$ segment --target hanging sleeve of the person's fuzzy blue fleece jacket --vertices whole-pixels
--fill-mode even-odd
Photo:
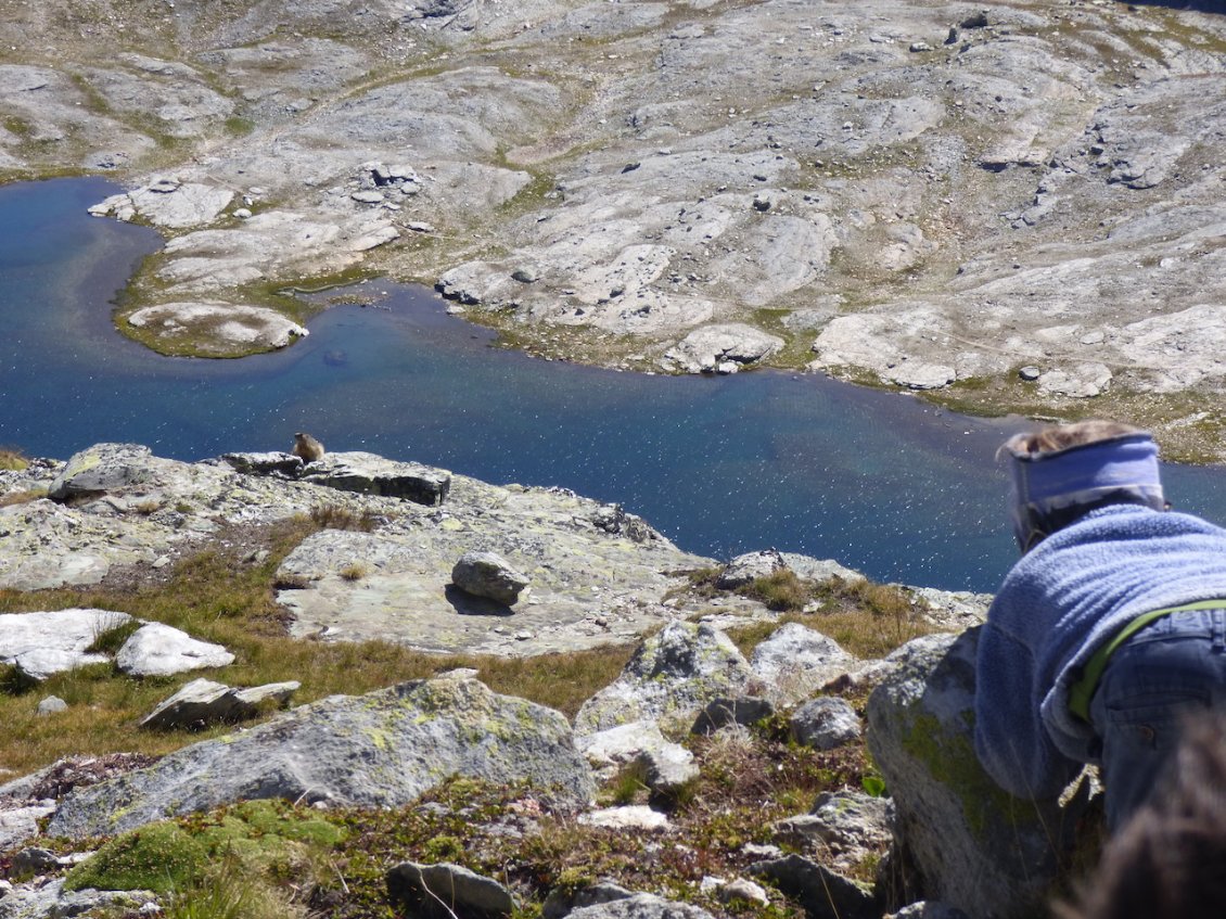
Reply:
[[[1029,647],[988,622],[980,632],[975,751],[987,773],[1018,798],[1056,798],[1081,770],[1052,744],[1040,714]]]

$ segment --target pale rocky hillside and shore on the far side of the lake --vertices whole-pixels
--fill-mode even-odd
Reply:
[[[164,235],[121,331],[436,286],[536,353],[755,364],[1226,455],[1226,17],[1113,0],[6,0],[0,174]]]

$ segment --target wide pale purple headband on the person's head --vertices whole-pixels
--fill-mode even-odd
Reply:
[[[1018,545],[1027,551],[1103,499],[1162,510],[1157,445],[1145,433],[1080,444],[1052,453],[1009,448],[1010,505]]]

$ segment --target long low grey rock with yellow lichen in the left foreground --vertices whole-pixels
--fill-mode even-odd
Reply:
[[[449,776],[528,781],[586,804],[591,771],[553,709],[462,676],[330,696],[66,798],[48,832],[112,834],[228,801],[398,806]]]

